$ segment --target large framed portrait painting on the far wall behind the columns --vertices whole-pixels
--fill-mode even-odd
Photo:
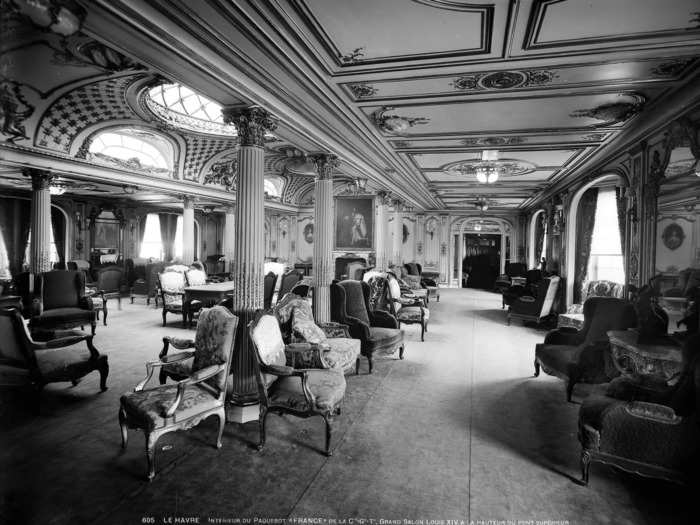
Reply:
[[[371,250],[374,244],[374,198],[336,197],[335,249]]]

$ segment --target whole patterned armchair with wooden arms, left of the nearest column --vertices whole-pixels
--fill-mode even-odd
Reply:
[[[188,430],[209,416],[219,418],[216,447],[226,423],[226,386],[231,368],[234,336],[238,318],[222,306],[203,310],[197,324],[192,352],[171,354],[146,363],[146,378],[133,392],[120,399],[119,426],[122,448],[126,448],[128,429],[140,428],[146,435],[148,479],[155,476],[155,447],[168,432]],[[191,373],[175,384],[145,389],[156,368],[179,361],[192,360]]]

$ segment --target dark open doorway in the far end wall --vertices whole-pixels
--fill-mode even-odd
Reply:
[[[465,233],[462,243],[462,287],[493,290],[501,266],[501,235]]]

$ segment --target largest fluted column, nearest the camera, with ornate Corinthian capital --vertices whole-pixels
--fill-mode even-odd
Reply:
[[[231,277],[233,312],[238,316],[236,353],[232,362],[232,392],[227,419],[244,423],[258,418],[258,387],[248,323],[263,307],[265,262],[265,132],[276,122],[262,108],[225,109],[224,121],[238,131],[236,236]]]

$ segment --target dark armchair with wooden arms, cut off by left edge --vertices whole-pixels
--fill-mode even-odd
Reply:
[[[35,395],[44,385],[70,381],[74,385],[93,370],[100,390],[107,390],[107,356],[92,344],[92,335],[77,330],[54,331],[48,341],[33,340],[16,308],[0,310],[0,387],[29,388]],[[83,347],[80,343],[85,343]]]

